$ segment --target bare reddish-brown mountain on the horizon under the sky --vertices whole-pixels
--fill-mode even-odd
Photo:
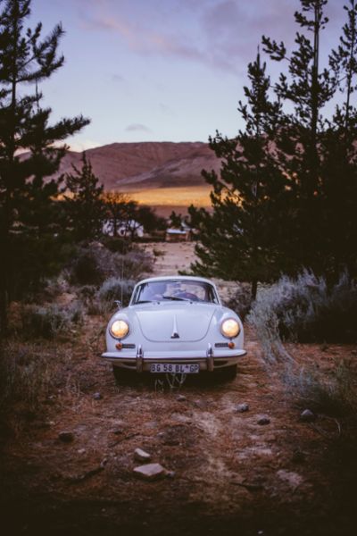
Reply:
[[[93,171],[107,190],[136,191],[153,188],[207,186],[203,169],[218,171],[220,161],[202,142],[112,143],[87,150]],[[81,153],[69,152],[59,174],[80,168]]]

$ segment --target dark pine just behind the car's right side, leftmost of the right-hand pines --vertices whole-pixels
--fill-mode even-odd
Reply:
[[[275,164],[274,139],[280,128],[280,105],[269,97],[270,79],[258,53],[248,65],[247,104],[238,110],[245,130],[228,139],[218,132],[210,147],[221,159],[220,176],[203,172],[212,185],[212,212],[191,206],[198,230],[194,272],[226,280],[269,281],[281,267],[279,220],[284,214],[286,178]]]

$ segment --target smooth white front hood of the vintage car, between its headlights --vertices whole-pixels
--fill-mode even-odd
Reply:
[[[152,342],[195,342],[207,334],[217,306],[213,304],[160,303],[134,306],[145,339]]]

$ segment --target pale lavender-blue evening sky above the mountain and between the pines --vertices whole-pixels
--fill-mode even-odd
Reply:
[[[329,0],[323,50],[338,43],[347,0]],[[294,45],[299,0],[32,0],[30,25],[62,22],[65,64],[41,85],[53,119],[91,123],[73,150],[113,142],[203,141],[243,127],[246,67],[262,34]],[[271,80],[280,65],[267,58]]]

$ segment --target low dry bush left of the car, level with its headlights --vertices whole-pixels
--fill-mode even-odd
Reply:
[[[83,309],[79,303],[68,307],[27,306],[22,311],[22,332],[28,337],[54,339],[58,333],[70,330],[81,322]]]

